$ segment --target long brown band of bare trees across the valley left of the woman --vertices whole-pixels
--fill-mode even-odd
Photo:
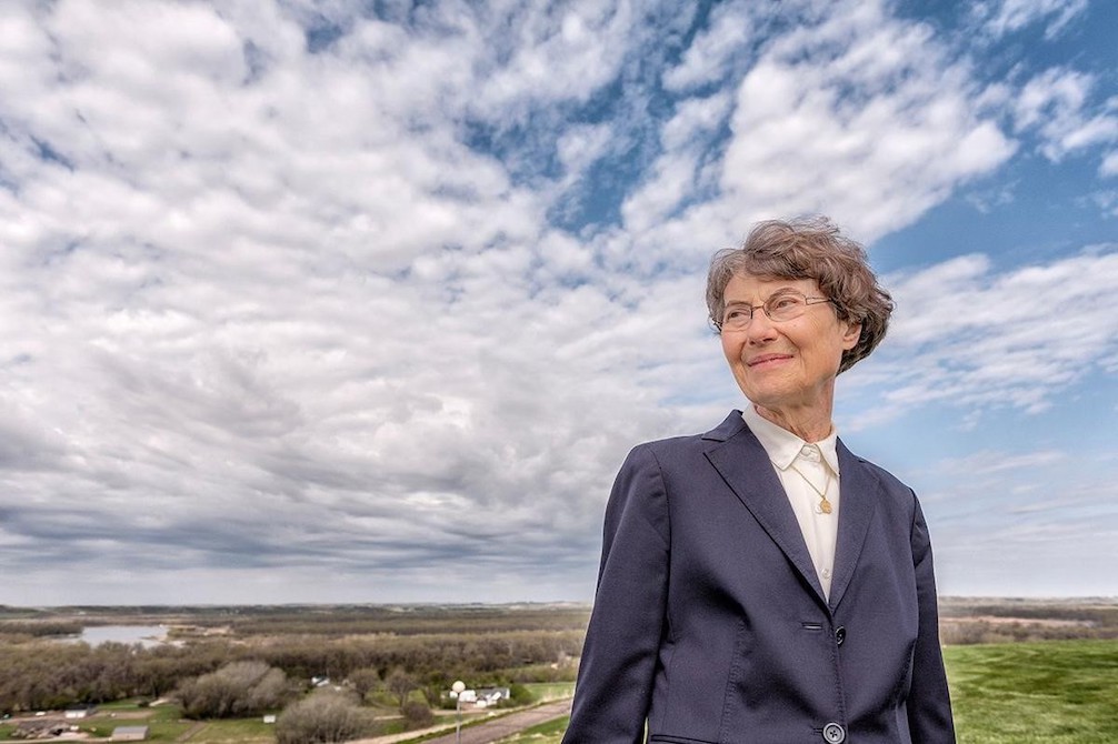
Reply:
[[[0,713],[171,694],[184,681],[226,665],[252,661],[306,685],[312,677],[344,680],[361,671],[387,680],[406,674],[428,699],[454,679],[474,685],[570,678],[582,631],[481,635],[278,638],[244,643],[202,640],[181,647],[29,641],[0,645]],[[360,675],[359,675],[360,676]]]

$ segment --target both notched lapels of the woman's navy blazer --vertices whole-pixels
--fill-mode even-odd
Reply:
[[[787,556],[818,601],[837,608],[854,575],[877,508],[879,485],[864,461],[852,455],[842,440],[839,441],[839,467],[842,473],[839,481],[839,537],[828,602],[815,575],[815,565],[788,497],[765,448],[741,418],[741,411],[731,411],[722,423],[702,438],[712,442],[705,452],[708,461]]]

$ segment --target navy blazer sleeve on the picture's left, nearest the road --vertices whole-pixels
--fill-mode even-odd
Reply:
[[[606,507],[601,564],[563,744],[636,744],[644,737],[665,632],[670,526],[660,464],[629,452]]]

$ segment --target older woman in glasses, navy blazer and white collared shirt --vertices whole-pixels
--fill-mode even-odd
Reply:
[[[892,312],[865,251],[762,222],[707,305],[748,401],[622,466],[563,742],[954,742],[920,505],[831,420]]]

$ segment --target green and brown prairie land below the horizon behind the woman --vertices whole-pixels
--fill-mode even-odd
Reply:
[[[153,742],[283,742],[275,722],[290,728],[300,715],[312,718],[314,702],[353,716],[350,741],[419,741],[453,731],[455,680],[496,695],[484,707],[476,696],[462,705],[467,727],[569,696],[589,610],[562,603],[0,608],[0,741],[50,722],[65,729],[56,740],[108,741],[126,722],[145,725]],[[961,742],[1114,741],[1118,599],[944,598],[940,612]],[[78,640],[84,630],[129,626],[164,633],[143,643]],[[245,686],[244,700],[237,685]],[[217,687],[226,697],[215,703]],[[254,695],[256,707],[246,702]],[[343,707],[326,706],[328,697]],[[83,706],[96,707],[65,718]],[[563,725],[558,717],[505,741],[551,744]]]

